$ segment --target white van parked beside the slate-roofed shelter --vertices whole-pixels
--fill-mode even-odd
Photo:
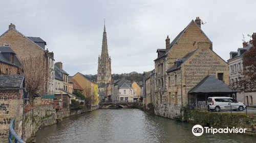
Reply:
[[[229,97],[209,97],[207,101],[207,107],[209,110],[240,110],[243,111],[246,106],[242,102],[237,102],[233,98]]]

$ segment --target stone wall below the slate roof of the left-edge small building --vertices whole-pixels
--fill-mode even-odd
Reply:
[[[22,135],[23,90],[0,90],[0,142],[8,142],[9,126],[15,117],[15,132]]]

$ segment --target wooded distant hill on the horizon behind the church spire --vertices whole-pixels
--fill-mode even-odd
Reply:
[[[113,80],[118,80],[118,79],[121,79],[121,78],[126,78],[127,80],[130,80],[130,81],[136,81],[136,82],[139,82],[139,81],[142,81],[143,80],[143,77],[142,77],[143,74],[141,73],[137,73],[136,71],[133,71],[131,73],[124,73],[124,74],[112,74],[112,79]],[[94,80],[97,80],[97,75],[87,75],[87,76],[90,76],[92,79]]]

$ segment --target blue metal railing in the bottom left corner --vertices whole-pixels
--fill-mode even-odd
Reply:
[[[12,118],[11,124],[9,126],[9,143],[12,143],[14,139],[15,143],[26,143],[25,141],[22,140],[14,131],[14,126],[15,126],[15,117]]]

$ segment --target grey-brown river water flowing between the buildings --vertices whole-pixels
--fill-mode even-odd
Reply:
[[[256,142],[256,137],[242,134],[197,137],[193,126],[138,109],[100,109],[42,128],[36,142]]]

